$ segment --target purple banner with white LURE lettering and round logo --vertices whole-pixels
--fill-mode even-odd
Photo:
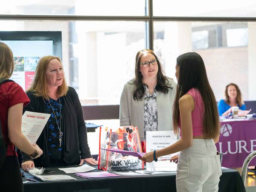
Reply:
[[[221,166],[242,167],[248,154],[256,150],[256,120],[221,122],[220,138],[216,147],[223,153]],[[256,157],[249,165],[256,165]]]

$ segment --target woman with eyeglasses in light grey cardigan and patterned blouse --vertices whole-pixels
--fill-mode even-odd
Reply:
[[[164,76],[150,49],[137,52],[135,78],[128,81],[120,100],[120,126],[136,126],[141,139],[146,131],[171,131],[176,83]]]

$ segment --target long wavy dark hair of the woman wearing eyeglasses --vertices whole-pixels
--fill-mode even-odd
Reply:
[[[137,52],[136,55],[136,64],[135,64],[135,80],[131,83],[135,85],[134,92],[133,92],[133,98],[134,100],[142,100],[144,94],[145,94],[145,89],[143,87],[143,82],[142,82],[142,74],[140,72],[140,59],[145,53],[150,53],[154,55],[154,57],[157,59],[157,55],[154,54],[154,52],[150,49],[142,49],[139,52]],[[163,93],[168,93],[169,88],[173,88],[169,86],[169,81],[166,76],[164,76],[164,72],[162,69],[162,66],[157,59],[157,66],[158,66],[158,72],[157,72],[157,85],[156,85],[156,90],[159,92]]]

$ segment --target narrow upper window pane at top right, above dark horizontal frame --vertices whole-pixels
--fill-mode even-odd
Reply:
[[[153,0],[153,12],[162,17],[256,17],[254,0]]]

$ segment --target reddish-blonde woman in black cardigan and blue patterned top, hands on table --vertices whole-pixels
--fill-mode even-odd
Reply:
[[[84,161],[96,165],[97,161],[91,157],[87,144],[79,97],[74,88],[67,86],[60,58],[45,56],[40,59],[35,79],[26,94],[31,102],[23,112],[49,113],[51,116],[37,141],[44,155],[32,160],[22,153],[22,169],[81,165]]]

